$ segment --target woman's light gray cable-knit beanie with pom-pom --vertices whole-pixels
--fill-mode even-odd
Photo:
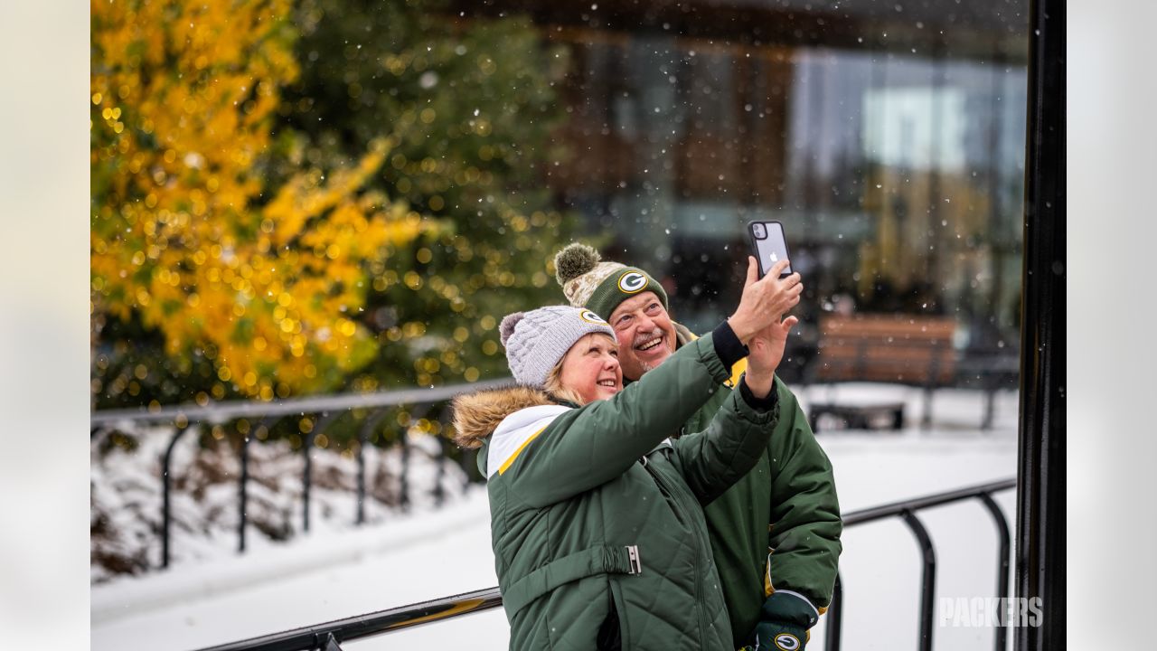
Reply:
[[[575,342],[591,332],[614,339],[614,330],[597,314],[565,305],[508,314],[499,326],[515,381],[535,388],[543,388],[554,365]]]

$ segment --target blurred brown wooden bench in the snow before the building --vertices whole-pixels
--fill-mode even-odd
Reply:
[[[817,359],[812,365],[815,382],[890,382],[924,389],[921,420],[931,422],[933,389],[956,378],[956,351],[952,336],[956,321],[923,315],[825,315],[819,322]],[[893,429],[904,425],[902,403],[813,404],[808,419],[812,430],[823,414],[843,418],[849,426],[869,426],[889,412]]]

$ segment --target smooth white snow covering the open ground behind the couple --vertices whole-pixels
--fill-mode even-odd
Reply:
[[[909,423],[919,390],[845,385],[801,392],[809,400],[904,400]],[[934,423],[899,433],[827,430],[820,441],[835,468],[843,512],[1016,475],[1017,396],[997,395],[995,427],[978,430],[981,395],[941,390]],[[1015,526],[1015,493],[996,502]],[[978,503],[921,513],[936,544],[937,597],[993,597],[996,529]],[[168,571],[112,580],[91,590],[91,648],[185,651],[316,624],[496,585],[485,490],[437,511],[417,511],[360,529],[324,529],[246,555],[189,562]],[[899,520],[861,525],[843,535],[843,648],[916,644],[920,554]],[[934,624],[938,622],[934,617]],[[821,649],[824,623],[809,644]],[[937,626],[936,649],[982,649],[992,629]],[[501,609],[362,642],[353,650],[506,649]]]

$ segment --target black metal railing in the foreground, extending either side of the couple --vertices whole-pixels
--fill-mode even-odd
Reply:
[[[1009,562],[1010,562],[1010,536],[1008,521],[1004,513],[993,499],[993,493],[1016,488],[1016,480],[1004,480],[975,487],[964,488],[949,492],[929,495],[915,499],[896,502],[853,511],[843,515],[843,526],[854,527],[867,522],[875,522],[886,518],[900,518],[912,529],[920,543],[923,570],[920,587],[920,649],[929,650],[933,646],[933,598],[936,588],[936,554],[931,536],[924,528],[918,511],[942,506],[965,499],[978,499],[996,522],[998,536],[998,556],[996,559],[996,597],[1008,597],[1009,586]],[[835,578],[835,591],[832,595],[832,604],[827,609],[827,628],[825,648],[830,651],[840,649],[840,628],[842,619],[843,591],[840,576]],[[480,613],[502,606],[502,595],[498,587],[466,592],[452,597],[422,601],[410,606],[400,606],[388,610],[378,610],[366,615],[358,615],[345,620],[337,620],[323,624],[304,627],[300,629],[264,635],[239,642],[231,642],[202,649],[200,651],[341,651],[340,644],[354,639],[362,639],[392,632],[404,628],[445,621],[460,615]],[[996,627],[996,639],[994,649],[1003,651],[1005,643],[1005,630]]]

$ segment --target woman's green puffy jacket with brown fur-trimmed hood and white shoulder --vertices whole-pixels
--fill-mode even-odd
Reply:
[[[511,649],[731,648],[701,504],[756,463],[776,410],[736,389],[703,432],[668,439],[729,376],[710,339],[577,409],[526,388],[456,400],[459,440],[485,437]]]

